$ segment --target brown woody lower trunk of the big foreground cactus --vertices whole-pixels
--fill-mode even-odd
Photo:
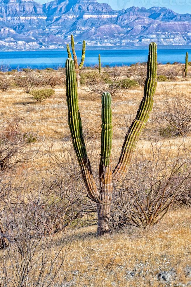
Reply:
[[[98,235],[110,232],[110,212],[112,200],[112,169],[100,165],[100,196],[98,203]]]

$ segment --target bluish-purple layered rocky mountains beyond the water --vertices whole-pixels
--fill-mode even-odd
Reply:
[[[191,14],[167,8],[114,11],[96,0],[0,0],[0,49],[65,49],[74,34],[92,49],[191,45]]]

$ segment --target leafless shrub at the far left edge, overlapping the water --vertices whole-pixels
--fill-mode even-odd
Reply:
[[[14,83],[16,71],[10,71],[9,65],[1,64],[0,67],[0,90],[6,92]]]

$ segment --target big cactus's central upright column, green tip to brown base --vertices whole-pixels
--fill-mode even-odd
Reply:
[[[110,229],[110,212],[112,200],[112,168],[110,155],[112,148],[112,109],[111,95],[108,92],[102,95],[102,131],[101,131],[101,158],[100,158],[100,196],[98,203],[98,234],[102,235]]]

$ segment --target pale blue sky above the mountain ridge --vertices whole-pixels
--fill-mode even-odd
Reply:
[[[191,0],[97,0],[107,3],[114,10],[121,10],[131,6],[150,8],[153,6],[167,7],[177,13],[191,13]]]

